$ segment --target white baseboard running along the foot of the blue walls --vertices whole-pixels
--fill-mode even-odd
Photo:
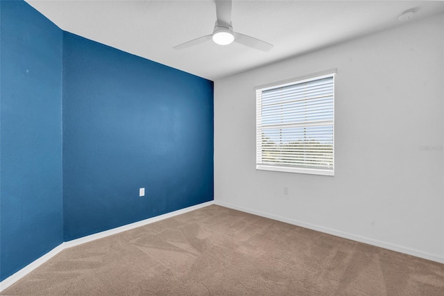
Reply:
[[[53,250],[49,251],[48,253],[41,256],[39,259],[36,259],[35,261],[29,263],[21,270],[15,272],[15,274],[10,275],[10,277],[7,277],[6,279],[3,279],[3,281],[0,282],[0,292],[5,290],[6,288],[10,287],[12,284],[14,284],[19,279],[22,279],[25,275],[28,275],[29,272],[35,270],[35,268],[39,267],[49,259],[51,259],[53,256],[56,256],[56,254],[62,252],[62,250],[67,249],[68,247],[74,247],[76,245],[81,245],[83,243],[88,243],[90,241],[95,241],[99,238],[104,238],[106,236],[111,236],[113,234],[118,234],[119,232],[125,232],[126,230],[134,229],[136,227],[141,227],[150,223],[155,223],[160,220],[164,220],[167,218],[171,218],[174,216],[178,216],[180,214],[188,213],[189,211],[194,211],[196,209],[200,209],[203,207],[208,207],[209,205],[214,204],[214,200],[211,200],[210,202],[203,202],[201,204],[196,204],[191,207],[187,207],[185,209],[179,209],[177,211],[172,211],[171,213],[163,214],[160,216],[155,216],[153,218],[148,218],[142,221],[138,221],[135,223],[123,225],[121,227],[113,228],[110,230],[106,230],[105,232],[99,232],[97,234],[91,234],[89,236],[84,236],[82,238],[74,239],[73,241],[67,241],[65,243],[61,243],[57,247],[54,247]]]

